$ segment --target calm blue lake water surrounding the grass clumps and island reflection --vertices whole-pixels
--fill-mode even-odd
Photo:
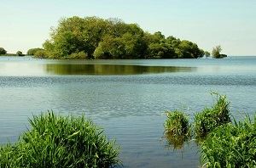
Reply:
[[[125,167],[199,167],[193,142],[166,143],[168,109],[211,106],[226,94],[238,120],[256,111],[256,57],[226,59],[49,60],[0,57],[0,143],[15,142],[28,117],[53,109],[85,113],[121,147]]]

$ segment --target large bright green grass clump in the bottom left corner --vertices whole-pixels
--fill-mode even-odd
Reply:
[[[84,115],[33,116],[18,143],[0,148],[0,167],[111,167],[119,148]]]

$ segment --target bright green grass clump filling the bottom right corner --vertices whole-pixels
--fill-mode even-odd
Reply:
[[[256,115],[234,125],[219,126],[202,145],[201,162],[207,167],[256,167]]]

